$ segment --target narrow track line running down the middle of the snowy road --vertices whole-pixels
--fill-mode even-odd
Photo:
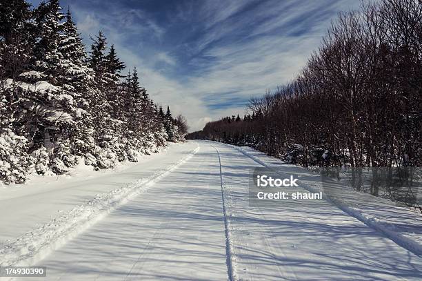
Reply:
[[[223,218],[224,218],[224,234],[225,234],[225,257],[226,257],[226,264],[228,269],[228,279],[230,281],[237,281],[239,280],[239,276],[237,275],[236,267],[234,266],[234,251],[233,251],[233,242],[232,236],[230,234],[230,220],[228,220],[228,213],[227,209],[225,208],[225,196],[224,196],[224,182],[223,182],[223,171],[221,168],[221,157],[220,153],[215,146],[211,144],[212,148],[215,149],[217,155],[219,156],[219,168],[220,168],[220,183],[221,183],[221,201],[223,204]]]

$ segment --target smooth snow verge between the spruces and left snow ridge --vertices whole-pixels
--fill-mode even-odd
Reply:
[[[172,144],[165,151],[145,155],[137,163],[125,163],[110,169],[89,171],[89,166],[82,165],[74,175],[60,177],[34,177],[28,184],[8,188],[0,186],[0,244],[13,240],[36,225],[43,225],[69,211],[74,206],[91,200],[97,194],[113,191],[135,180],[147,178],[196,148],[194,143]]]

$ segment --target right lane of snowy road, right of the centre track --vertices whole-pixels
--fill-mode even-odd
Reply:
[[[300,186],[303,182],[310,184],[309,171],[283,164],[251,148],[213,145],[220,151],[229,194],[228,215],[239,280],[421,280],[419,256],[332,202],[288,200],[268,205],[248,202],[248,168],[277,166],[299,177]],[[306,192],[304,188],[295,191]],[[391,202],[390,207],[390,212],[383,209],[385,220],[387,217],[398,220],[406,215],[410,215],[408,219],[416,218],[414,212],[394,209]],[[420,225],[420,221],[408,224],[408,231],[418,233]]]

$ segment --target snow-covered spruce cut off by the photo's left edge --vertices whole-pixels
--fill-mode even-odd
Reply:
[[[28,140],[17,135],[19,89],[13,83],[28,64],[33,39],[30,5],[23,0],[0,3],[0,181],[23,182],[33,164]]]

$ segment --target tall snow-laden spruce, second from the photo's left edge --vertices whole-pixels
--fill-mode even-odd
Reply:
[[[83,101],[79,91],[87,79],[83,75],[81,46],[70,14],[63,23],[59,1],[51,0],[34,10],[36,24],[32,64],[19,75],[26,82],[22,112],[30,124],[21,124],[21,135],[30,139],[29,152],[36,158],[37,173],[64,173],[77,164],[78,153],[70,145],[81,144],[89,134],[79,132],[85,126]],[[79,50],[78,50],[79,49]],[[83,49],[82,49],[83,50]],[[79,51],[79,53],[78,53]],[[88,72],[88,71],[87,71]],[[79,84],[79,85],[78,85]],[[31,85],[28,87],[28,85]],[[83,133],[88,133],[84,130]],[[79,139],[82,138],[82,139]]]

